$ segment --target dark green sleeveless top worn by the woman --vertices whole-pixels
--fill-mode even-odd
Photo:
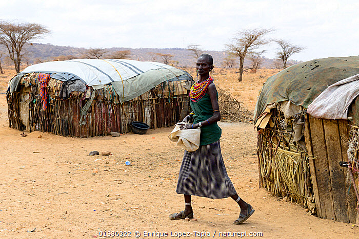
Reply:
[[[217,92],[218,100],[218,92]],[[193,102],[190,100],[191,108],[194,112],[193,123],[199,123],[209,119],[213,116],[213,108],[211,103],[211,98],[209,94],[206,93],[200,100]],[[201,142],[200,145],[207,145],[214,143],[219,140],[222,135],[222,129],[218,126],[217,122],[201,127]]]

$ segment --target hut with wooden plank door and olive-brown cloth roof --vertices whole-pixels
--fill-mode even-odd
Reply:
[[[357,225],[358,74],[359,56],[296,64],[268,78],[254,112],[260,187]]]

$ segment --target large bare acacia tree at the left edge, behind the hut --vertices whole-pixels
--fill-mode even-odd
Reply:
[[[9,58],[14,62],[16,73],[20,72],[25,44],[48,33],[50,31],[39,24],[0,21],[0,44],[7,48]]]

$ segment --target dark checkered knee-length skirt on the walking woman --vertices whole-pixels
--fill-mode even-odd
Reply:
[[[236,191],[227,175],[220,141],[185,151],[179,169],[176,192],[210,199],[228,198]]]

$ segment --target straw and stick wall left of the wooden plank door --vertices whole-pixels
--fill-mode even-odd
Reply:
[[[298,117],[304,116],[303,114]],[[313,190],[309,158],[305,150],[293,142],[292,120],[282,127],[283,113],[272,109],[274,128],[258,135],[258,171],[260,185],[276,197],[288,197],[301,206],[311,205]]]

